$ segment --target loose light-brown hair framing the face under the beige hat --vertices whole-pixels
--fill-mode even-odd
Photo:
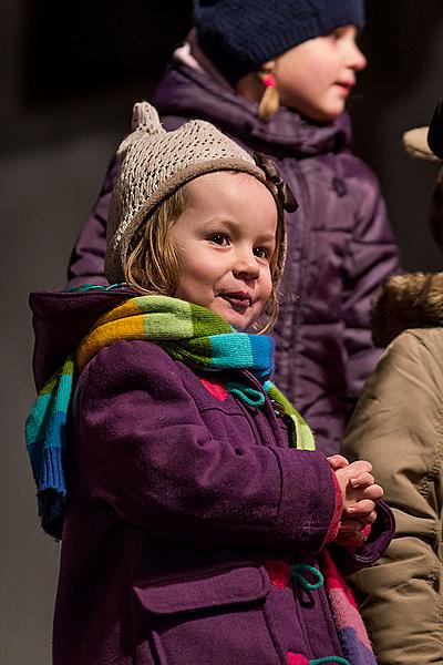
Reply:
[[[233,175],[238,171],[228,172]],[[185,209],[189,198],[190,183],[186,183],[167,196],[146,217],[135,234],[128,248],[125,264],[125,279],[143,295],[174,297],[178,286],[179,262],[171,239],[171,228]],[[276,202],[277,205],[277,202]],[[284,212],[278,208],[276,250],[270,259],[272,291],[264,310],[254,326],[254,332],[267,332],[278,317],[277,289],[281,278],[279,247],[285,243]]]

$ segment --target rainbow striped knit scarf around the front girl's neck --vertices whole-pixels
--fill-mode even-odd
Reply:
[[[292,444],[313,450],[308,424],[269,380],[272,338],[237,332],[214,311],[177,298],[128,298],[96,321],[75,354],[45,383],[27,419],[27,448],[38,488],[39,513],[50,535],[60,538],[62,530],[66,429],[75,377],[102,347],[121,339],[153,341],[172,358],[199,370],[248,370],[287,415]],[[262,392],[250,385],[229,382],[226,387],[249,405],[260,407],[265,401]]]

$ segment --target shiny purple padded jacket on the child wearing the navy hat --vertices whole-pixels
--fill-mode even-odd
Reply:
[[[296,194],[300,207],[287,215],[289,252],[275,328],[276,381],[310,423],[318,448],[337,452],[379,357],[369,329],[372,294],[400,269],[375,177],[349,150],[348,114],[318,125],[282,108],[264,122],[256,104],[178,62],[154,103],[168,130],[198,117],[245,149],[265,153]],[[105,283],[105,224],[115,176],[112,162],[72,255],[71,285]]]

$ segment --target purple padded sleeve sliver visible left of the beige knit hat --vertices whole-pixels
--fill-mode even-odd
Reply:
[[[117,176],[116,156],[114,155],[99,194],[71,253],[68,267],[68,288],[82,284],[101,284],[107,286],[104,276],[104,255],[106,252],[106,223],[111,194]]]

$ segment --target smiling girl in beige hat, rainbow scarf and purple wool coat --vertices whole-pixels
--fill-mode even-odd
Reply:
[[[62,538],[54,665],[373,665],[336,565],[375,561],[391,513],[368,462],[311,450],[260,335],[289,188],[208,123],[165,132],[147,103],[119,157],[116,286],[31,300],[38,387],[76,349],[28,421]]]

